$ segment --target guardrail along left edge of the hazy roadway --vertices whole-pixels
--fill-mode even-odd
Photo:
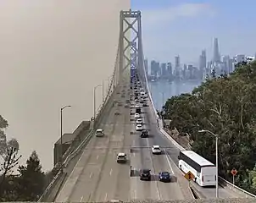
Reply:
[[[94,131],[92,130],[85,137],[85,139],[81,142],[81,144],[75,149],[75,151],[73,151],[72,153],[70,153],[69,156],[66,157],[66,159],[64,160],[64,163],[63,163],[64,167],[67,167],[68,164],[70,163],[70,161],[78,154],[79,151],[81,151],[81,148],[84,145],[86,145],[89,140],[91,140],[93,134],[94,134]],[[37,202],[41,202],[42,200],[44,200],[47,197],[48,193],[51,191],[51,189],[53,189],[55,184],[61,178],[62,174],[63,174],[63,172],[61,170],[59,170],[58,173],[53,177],[52,182],[47,186],[47,189],[44,190],[44,192],[41,195],[41,197],[39,198],[39,200],[37,200]]]

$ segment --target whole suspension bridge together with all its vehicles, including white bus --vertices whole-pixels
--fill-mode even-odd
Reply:
[[[53,201],[254,198],[242,189],[216,187],[215,165],[164,132],[145,76],[141,15],[120,12],[118,59],[104,111],[94,118],[92,137]]]

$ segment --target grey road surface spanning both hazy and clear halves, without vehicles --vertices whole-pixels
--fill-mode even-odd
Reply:
[[[150,107],[142,108],[144,127],[149,130],[149,138],[141,138],[138,133],[131,134],[136,131],[134,115],[131,115],[129,107],[124,107],[125,100],[130,99],[129,83],[130,81],[126,82],[125,87],[118,87],[120,94],[115,94],[114,100],[120,101],[121,105],[116,103],[110,108],[100,124],[99,128],[103,129],[106,135],[92,137],[55,201],[192,199],[188,182],[176,167],[179,150],[159,132]],[[123,90],[125,97],[122,97]],[[132,112],[134,111],[132,109]],[[120,112],[120,115],[115,112]],[[164,154],[153,155],[152,145],[160,145]],[[116,155],[119,152],[125,152],[129,162],[118,164]],[[130,167],[135,172],[131,177]],[[139,179],[138,172],[142,168],[151,169],[151,181]],[[171,183],[159,182],[158,173],[161,171],[169,171],[172,174]],[[214,198],[214,189],[197,187],[207,198]],[[225,189],[220,189],[220,197],[230,196]]]

